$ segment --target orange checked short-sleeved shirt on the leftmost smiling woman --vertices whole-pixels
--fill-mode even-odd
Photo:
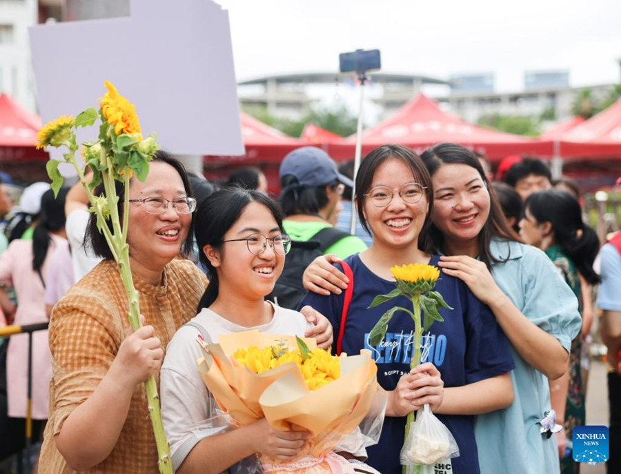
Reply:
[[[177,328],[196,312],[206,288],[206,277],[187,260],[171,261],[160,286],[134,277],[145,324],[166,348]],[[54,436],[72,411],[82,404],[108,372],[121,342],[128,334],[128,299],[114,261],[102,261],[66,293],[50,318],[52,383],[50,418],[46,426],[39,466],[46,473],[75,473],[59,453]],[[155,375],[159,386],[159,373]],[[119,440],[103,462],[86,473],[157,473],[157,447],[148,416],[144,384],[132,395]]]

